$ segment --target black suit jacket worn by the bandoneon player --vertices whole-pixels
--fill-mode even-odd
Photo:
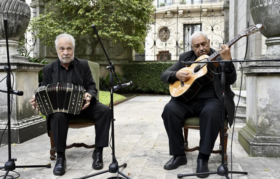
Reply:
[[[59,59],[43,67],[43,82],[42,86],[47,84],[60,82],[59,73],[60,63]],[[75,84],[83,86],[86,89],[86,92],[92,95],[90,104],[96,102],[97,89],[95,88],[95,82],[92,78],[92,73],[89,69],[89,64],[87,60],[79,59],[74,57],[73,59],[73,75],[75,76]],[[49,120],[50,115],[47,116],[47,132],[49,135]]]

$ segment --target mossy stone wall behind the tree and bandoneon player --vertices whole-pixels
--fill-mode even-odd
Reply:
[[[32,0],[30,4],[31,7],[36,9],[36,16],[39,16],[39,14],[44,14],[45,5],[46,3],[41,0]],[[108,60],[100,44],[96,46],[94,58],[91,60],[92,47],[81,41],[88,40],[89,38],[90,37],[81,37],[80,39],[75,39],[75,57],[98,63],[100,65],[100,77],[105,78],[109,74],[109,70],[106,69],[106,66],[108,66]],[[112,63],[116,65],[116,71],[121,73],[120,65],[131,61],[133,58],[132,48],[129,47],[125,42],[114,43],[112,40],[102,40],[102,43]],[[57,59],[55,47],[49,47],[42,44],[40,39],[37,39],[36,45],[34,47],[34,53],[36,57],[40,59],[45,58],[49,62],[55,61]]]

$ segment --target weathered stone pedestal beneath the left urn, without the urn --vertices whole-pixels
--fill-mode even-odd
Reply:
[[[7,63],[0,62],[0,79],[7,76],[4,72],[5,65]],[[13,90],[24,92],[23,96],[11,95],[11,142],[22,143],[47,132],[46,120],[36,110],[32,109],[29,103],[32,95],[34,95],[34,89],[38,87],[38,72],[44,65],[15,61],[11,61],[10,65],[14,76],[13,79],[11,75],[11,81],[14,80],[14,85],[11,83]],[[6,79],[0,83],[0,89],[7,90]],[[0,92],[0,135],[7,125],[7,118],[7,93]],[[6,130],[2,143],[7,143],[7,135]]]

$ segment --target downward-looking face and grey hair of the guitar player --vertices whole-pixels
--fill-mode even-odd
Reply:
[[[199,35],[196,38],[193,38],[191,42],[191,47],[193,48],[194,53],[197,57],[201,55],[207,55],[210,52],[210,40],[204,37],[204,35]]]

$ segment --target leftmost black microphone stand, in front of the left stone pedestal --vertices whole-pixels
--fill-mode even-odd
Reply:
[[[7,73],[7,107],[8,107],[8,153],[9,153],[9,159],[5,163],[4,167],[0,167],[0,169],[3,169],[7,171],[3,177],[5,179],[8,176],[9,171],[15,170],[16,168],[35,168],[35,167],[47,167],[50,168],[51,165],[20,165],[16,166],[15,161],[17,159],[12,159],[11,157],[11,111],[10,111],[10,93],[12,92],[11,87],[11,66],[10,66],[10,59],[9,59],[9,45],[8,45],[8,21],[7,18],[4,18],[4,27],[5,27],[5,36],[6,36],[6,47],[7,47],[7,66],[4,66],[4,71]]]

